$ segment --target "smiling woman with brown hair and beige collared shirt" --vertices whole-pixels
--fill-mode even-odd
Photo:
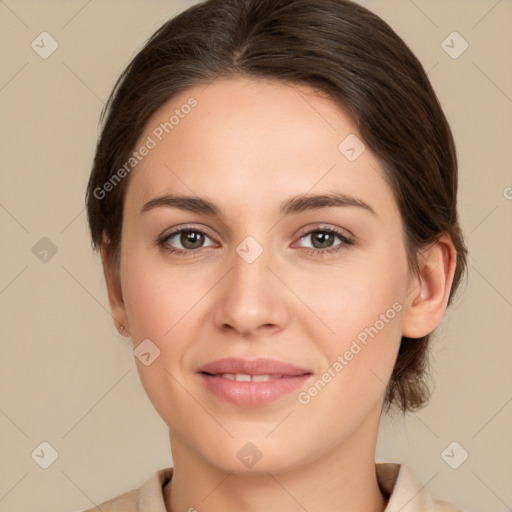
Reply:
[[[173,467],[98,508],[457,510],[375,463],[466,266],[453,138],[399,36],[348,0],[209,0],[104,114],[92,243]]]

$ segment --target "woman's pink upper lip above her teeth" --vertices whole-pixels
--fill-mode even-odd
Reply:
[[[210,374],[222,373],[244,373],[247,375],[305,375],[311,373],[309,370],[299,368],[290,363],[260,357],[258,359],[240,359],[227,357],[217,359],[199,368],[198,372]]]

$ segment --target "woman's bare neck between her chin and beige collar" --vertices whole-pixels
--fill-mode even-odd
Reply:
[[[164,490],[167,512],[383,512],[387,500],[375,473],[378,419],[309,464],[255,475],[212,465],[170,431],[174,471]]]

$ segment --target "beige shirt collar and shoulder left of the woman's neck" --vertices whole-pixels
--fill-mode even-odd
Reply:
[[[166,512],[163,488],[172,477],[173,468],[163,468],[144,484],[81,512]]]

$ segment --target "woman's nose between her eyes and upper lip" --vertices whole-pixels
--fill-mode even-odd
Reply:
[[[234,251],[232,267],[219,283],[215,324],[238,336],[268,336],[288,322],[287,288],[264,250],[254,261]],[[289,293],[289,292],[288,292]]]

